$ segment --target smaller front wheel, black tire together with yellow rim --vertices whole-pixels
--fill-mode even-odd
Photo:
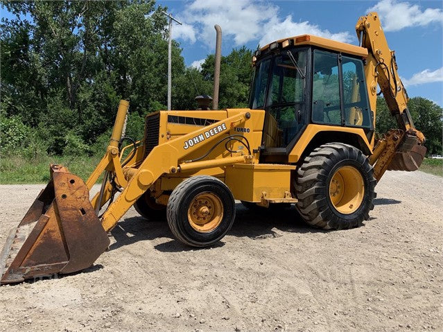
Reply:
[[[168,225],[177,240],[207,247],[231,229],[235,201],[229,188],[216,177],[189,177],[171,193],[166,208]]]

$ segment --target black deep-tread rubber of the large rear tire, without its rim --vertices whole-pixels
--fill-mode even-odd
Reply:
[[[353,166],[363,177],[365,193],[360,207],[353,213],[342,214],[329,198],[329,183],[336,170]],[[376,198],[374,171],[361,150],[344,143],[327,143],[304,159],[295,179],[297,209],[309,224],[322,229],[359,227],[369,219]]]

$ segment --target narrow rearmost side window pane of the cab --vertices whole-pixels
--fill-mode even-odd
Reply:
[[[346,125],[370,127],[370,109],[361,60],[342,57],[343,103]]]

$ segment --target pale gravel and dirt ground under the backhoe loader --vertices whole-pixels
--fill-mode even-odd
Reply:
[[[0,186],[0,246],[42,185]],[[251,213],[209,249],[134,209],[92,268],[0,287],[0,331],[443,331],[443,179],[389,172],[372,218]]]

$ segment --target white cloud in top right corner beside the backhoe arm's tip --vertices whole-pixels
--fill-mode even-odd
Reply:
[[[426,8],[424,11],[414,4],[396,0],[381,0],[368,12],[378,12],[385,31],[399,31],[409,26],[426,26],[433,22],[443,23],[441,8]]]

